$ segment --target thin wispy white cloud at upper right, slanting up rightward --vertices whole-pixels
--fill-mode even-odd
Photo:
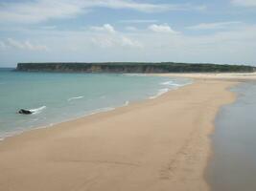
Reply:
[[[230,28],[233,25],[241,24],[240,21],[230,21],[230,22],[216,22],[216,23],[200,23],[195,26],[187,27],[190,30],[220,30]]]

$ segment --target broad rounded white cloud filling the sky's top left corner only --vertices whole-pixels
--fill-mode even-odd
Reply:
[[[81,13],[79,5],[57,0],[2,3],[0,22],[37,23],[53,18],[67,18]]]

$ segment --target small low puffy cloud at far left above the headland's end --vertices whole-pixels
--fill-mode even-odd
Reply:
[[[14,48],[17,50],[27,50],[27,51],[47,51],[47,47],[44,45],[33,45],[30,41],[20,42],[12,38],[8,38],[7,42],[4,44],[5,48]]]

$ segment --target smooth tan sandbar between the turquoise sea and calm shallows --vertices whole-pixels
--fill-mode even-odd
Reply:
[[[213,121],[236,82],[197,80],[156,99],[0,142],[1,191],[200,191]]]

